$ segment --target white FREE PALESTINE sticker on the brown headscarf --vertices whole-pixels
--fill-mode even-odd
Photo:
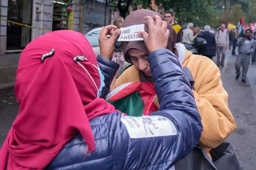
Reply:
[[[144,24],[133,25],[121,28],[121,34],[117,41],[143,41],[144,39],[138,36],[139,31],[144,31]]]

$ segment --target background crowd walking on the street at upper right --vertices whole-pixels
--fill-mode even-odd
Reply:
[[[212,33],[212,28],[208,25],[204,26],[204,30],[200,32],[200,27],[194,27],[193,23],[188,23],[187,28],[183,31],[181,27],[177,27],[177,23],[174,22],[175,14],[173,12],[166,12],[165,19],[173,26],[179,40],[187,49],[195,46],[195,38],[201,37],[206,41],[206,44],[197,47],[198,54],[206,56],[210,59],[216,56],[216,65],[218,67],[224,66],[226,51],[230,52],[232,47],[232,55],[236,57],[236,80],[241,75],[240,68],[242,67],[242,82],[247,82],[247,71],[249,65],[256,62],[256,32],[252,32],[250,29],[246,29],[244,34],[239,33],[239,28],[236,27],[228,31],[224,24],[220,25],[220,29],[217,29]],[[238,54],[236,55],[236,47],[238,48]],[[256,81],[255,81],[256,83]]]

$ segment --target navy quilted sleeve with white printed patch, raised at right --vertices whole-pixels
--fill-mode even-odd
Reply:
[[[203,130],[190,83],[177,57],[161,49],[152,52],[148,60],[160,111],[142,117],[123,116],[117,123],[112,155],[120,169],[168,170],[192,151]]]

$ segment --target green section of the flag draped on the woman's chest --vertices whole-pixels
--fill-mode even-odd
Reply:
[[[140,92],[133,92],[132,94],[116,101],[107,101],[115,106],[116,110],[120,110],[129,116],[142,116],[145,107],[141,99]]]

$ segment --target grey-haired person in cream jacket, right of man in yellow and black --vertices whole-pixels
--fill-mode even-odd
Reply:
[[[186,48],[193,46],[194,38],[198,35],[194,35],[194,24],[188,23],[187,28],[183,30],[182,42]]]

